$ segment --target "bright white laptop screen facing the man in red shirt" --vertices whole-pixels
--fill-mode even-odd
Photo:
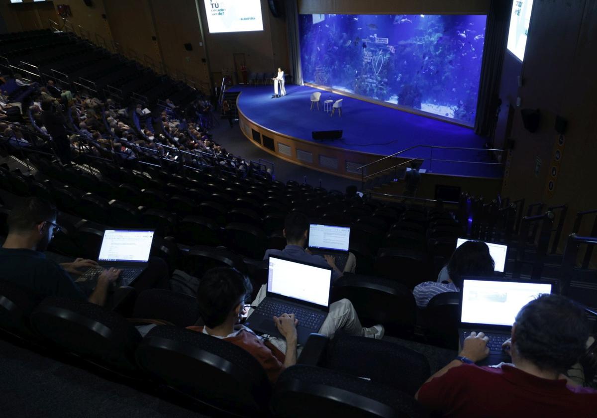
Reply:
[[[543,293],[552,293],[552,284],[465,278],[460,322],[512,326],[522,306]]]

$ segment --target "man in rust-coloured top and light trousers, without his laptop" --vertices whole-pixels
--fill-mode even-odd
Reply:
[[[252,290],[250,280],[236,269],[214,268],[207,271],[197,290],[199,314],[205,325],[189,329],[224,339],[245,349],[260,362],[273,383],[284,368],[296,364],[298,322],[294,314],[272,317],[284,341],[276,337],[263,339],[241,325],[245,300],[250,297]],[[381,325],[362,328],[355,309],[346,299],[330,305],[330,313],[319,333],[332,337],[340,329],[348,334],[375,339],[381,339],[384,333]]]

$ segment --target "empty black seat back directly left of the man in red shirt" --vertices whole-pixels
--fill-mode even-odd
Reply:
[[[376,359],[376,361],[371,361]],[[327,368],[367,377],[414,396],[429,379],[427,358],[399,344],[338,333],[328,348]]]

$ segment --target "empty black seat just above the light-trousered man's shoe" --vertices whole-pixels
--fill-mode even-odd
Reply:
[[[413,292],[391,279],[345,274],[332,288],[331,300],[348,299],[359,314],[361,324],[383,324],[386,334],[410,337],[416,322]]]

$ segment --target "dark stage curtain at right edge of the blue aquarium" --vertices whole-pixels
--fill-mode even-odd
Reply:
[[[487,29],[475,118],[475,133],[482,136],[491,136],[496,126],[501,67],[506,52],[511,10],[512,0],[491,0],[485,25]]]

